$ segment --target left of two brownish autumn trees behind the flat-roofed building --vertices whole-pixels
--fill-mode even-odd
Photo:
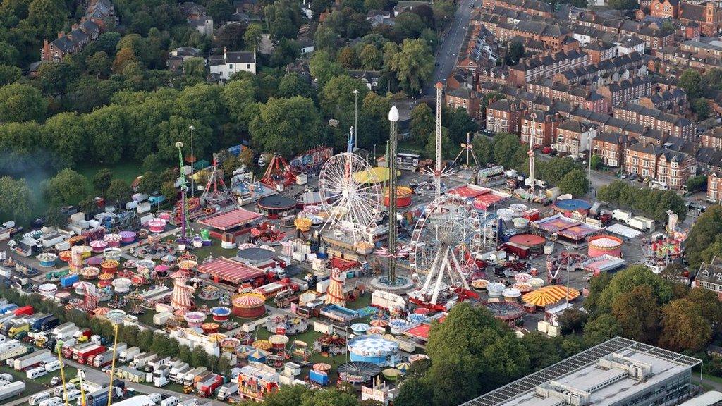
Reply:
[[[650,344],[656,343],[659,334],[659,305],[651,287],[638,285],[617,295],[612,303],[612,316],[617,319],[625,337]]]

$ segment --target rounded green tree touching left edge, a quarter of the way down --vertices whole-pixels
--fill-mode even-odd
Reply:
[[[48,100],[35,87],[20,83],[0,87],[0,122],[43,121],[47,109]]]

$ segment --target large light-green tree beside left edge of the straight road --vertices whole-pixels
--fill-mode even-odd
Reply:
[[[396,74],[402,89],[418,93],[434,70],[434,56],[423,40],[406,39],[401,51],[391,59],[390,69]]]

